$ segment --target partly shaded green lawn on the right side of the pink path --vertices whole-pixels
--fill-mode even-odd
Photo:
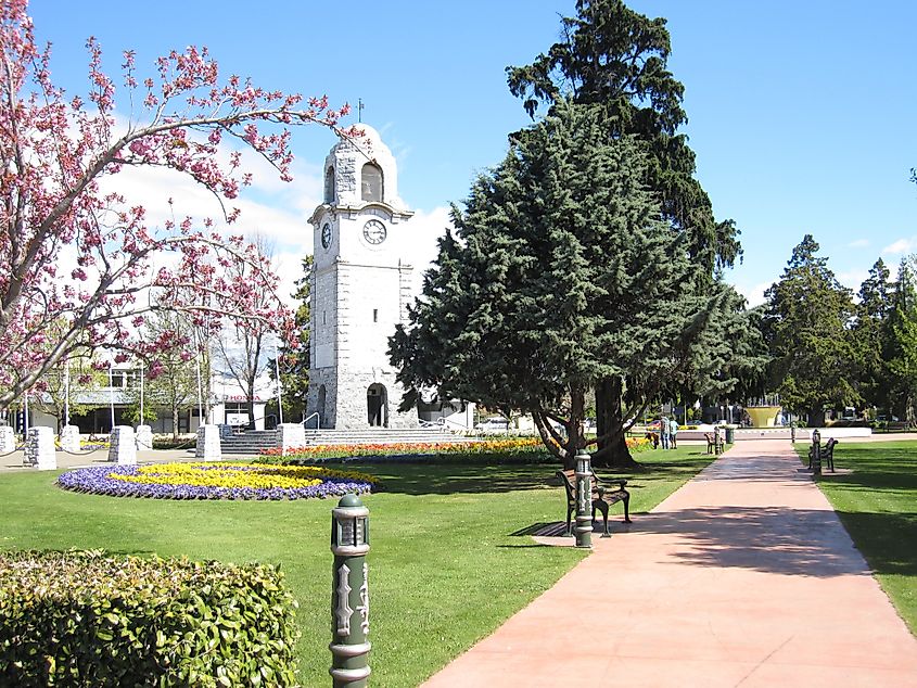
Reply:
[[[807,446],[801,456],[806,451]],[[818,485],[917,635],[917,442],[841,439],[835,467],[853,472],[826,473]]]

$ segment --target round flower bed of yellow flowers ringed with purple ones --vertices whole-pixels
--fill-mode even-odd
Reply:
[[[62,474],[58,485],[113,497],[309,499],[368,493],[377,481],[355,471],[211,462],[82,468]]]

